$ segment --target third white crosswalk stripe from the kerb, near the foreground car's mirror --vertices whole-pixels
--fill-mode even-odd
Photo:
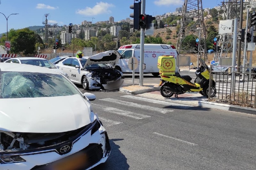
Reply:
[[[151,116],[148,116],[148,115],[142,115],[140,113],[134,113],[134,112],[126,111],[126,110],[117,109],[117,108],[114,108],[114,107],[106,107],[106,106],[102,106],[102,105],[98,105],[98,104],[94,104],[94,103],[91,103],[91,105],[93,105],[93,107],[99,107],[102,110],[107,111],[109,113],[114,113],[114,114],[117,114],[117,115],[130,117],[130,118],[133,118],[133,119],[143,119],[143,118],[151,117]]]

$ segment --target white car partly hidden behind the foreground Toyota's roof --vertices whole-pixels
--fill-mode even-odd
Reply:
[[[36,58],[36,57],[17,57],[17,58],[11,58],[9,60],[6,60],[4,63],[20,63],[20,64],[29,64],[29,65],[36,65],[41,67],[47,67],[49,69],[53,69],[55,71],[60,72],[61,74],[68,77],[68,74],[63,72],[62,70],[59,70],[57,67],[55,67],[51,62],[44,58]]]

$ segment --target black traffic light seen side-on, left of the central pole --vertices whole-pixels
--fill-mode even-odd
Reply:
[[[130,14],[130,17],[133,18],[133,21],[130,22],[130,25],[133,26],[134,29],[139,30],[140,29],[140,6],[141,2],[139,3],[133,3],[133,5],[130,5],[130,8],[133,9],[133,13]]]

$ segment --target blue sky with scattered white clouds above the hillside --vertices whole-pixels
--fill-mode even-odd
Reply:
[[[0,12],[8,18],[8,31],[11,28],[21,29],[28,26],[42,26],[44,14],[49,13],[49,24],[59,26],[69,23],[81,24],[83,20],[109,20],[113,16],[115,21],[129,18],[133,0],[0,0]],[[221,0],[202,0],[203,8],[213,8]],[[181,7],[185,0],[146,0],[146,14],[162,15],[173,12]],[[0,33],[6,32],[6,18],[0,13]]]

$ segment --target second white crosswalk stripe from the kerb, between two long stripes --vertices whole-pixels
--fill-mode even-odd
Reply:
[[[168,110],[168,109],[159,108],[159,107],[152,107],[152,106],[147,106],[147,105],[141,105],[138,103],[132,103],[132,102],[128,102],[128,101],[111,99],[111,98],[100,99],[100,100],[116,103],[118,105],[129,106],[129,107],[139,107],[141,109],[147,109],[147,110],[151,110],[153,112],[159,112],[159,113],[163,113],[163,114],[168,113],[168,112],[173,112],[173,110]]]

